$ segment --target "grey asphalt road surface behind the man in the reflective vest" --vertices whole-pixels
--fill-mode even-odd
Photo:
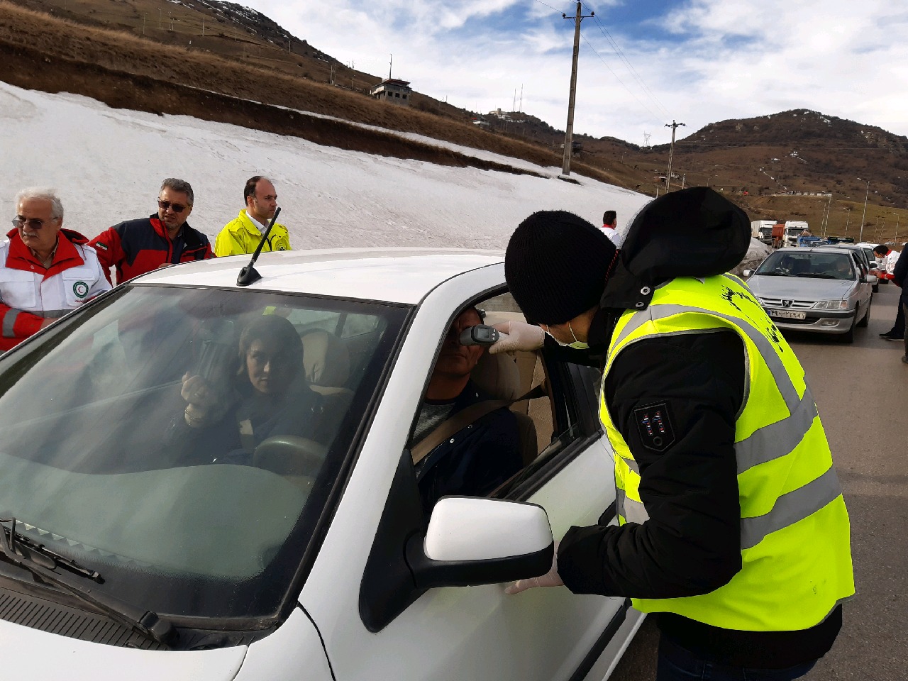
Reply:
[[[833,649],[809,681],[908,678],[908,365],[903,344],[883,341],[899,289],[873,294],[870,325],[853,345],[786,334],[814,392],[851,516],[857,594],[844,605]],[[612,681],[656,677],[658,631],[647,620]]]

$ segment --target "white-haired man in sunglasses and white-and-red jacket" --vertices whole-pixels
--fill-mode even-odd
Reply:
[[[0,242],[2,351],[111,288],[88,239],[63,229],[54,190],[19,192],[15,210],[15,229]]]

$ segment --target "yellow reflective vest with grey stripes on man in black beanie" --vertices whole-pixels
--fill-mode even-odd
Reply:
[[[814,627],[854,595],[848,511],[804,369],[745,284],[722,275],[656,288],[646,310],[628,310],[617,322],[604,376],[631,343],[717,330],[735,331],[747,360],[735,422],[742,568],[703,596],[634,598],[633,604],[727,629]],[[643,523],[639,467],[611,419],[605,390],[599,412],[616,454],[618,522]]]

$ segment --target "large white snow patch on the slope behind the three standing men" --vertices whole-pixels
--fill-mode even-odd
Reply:
[[[580,186],[560,182],[558,168],[534,166],[548,175],[544,179],[405,161],[188,116],[111,109],[82,96],[5,83],[0,148],[5,214],[15,214],[19,189],[50,185],[63,200],[65,226],[89,237],[155,212],[164,177],[192,183],[189,222],[213,237],[243,207],[245,180],[268,175],[295,248],[503,248],[534,211],[568,210],[598,225],[602,212],[612,209],[620,227],[650,200],[577,175]]]

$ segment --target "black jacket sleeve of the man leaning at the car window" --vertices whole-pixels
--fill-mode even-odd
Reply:
[[[696,596],[741,569],[734,443],[745,366],[744,344],[732,331],[639,341],[617,357],[606,400],[639,465],[649,519],[570,528],[558,573],[571,591]],[[654,405],[670,429],[659,450],[646,431]]]

